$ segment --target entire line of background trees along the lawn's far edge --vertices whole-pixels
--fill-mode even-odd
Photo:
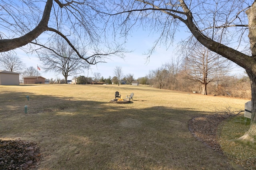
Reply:
[[[60,46],[61,45],[59,45],[59,47]],[[65,45],[62,47],[65,49]],[[67,54],[67,52],[65,54]],[[56,57],[56,59],[57,58],[58,57]],[[60,57],[59,61],[61,61],[62,58],[63,57]],[[72,72],[70,69],[73,69],[72,66],[78,66],[79,61],[74,62],[76,64],[70,64],[71,61],[76,59],[75,57],[64,57],[64,59],[70,59],[70,61],[65,60],[65,62],[60,62],[64,64],[62,66],[60,64],[60,67],[58,67],[58,72],[65,73],[64,79],[56,78],[53,80],[53,78],[51,78],[51,84],[67,83],[67,75],[78,73],[77,70]],[[85,69],[89,68],[88,64],[84,65],[86,65],[84,67]],[[94,77],[77,76],[76,84],[119,85],[132,84],[133,81],[138,81],[139,84],[160,89],[250,98],[250,80],[248,76],[246,73],[242,76],[230,76],[228,75],[230,67],[231,63],[223,57],[216,55],[216,53],[212,53],[204,47],[198,47],[196,50],[185,55],[183,60],[180,60],[179,58],[176,60],[172,59],[169,63],[162,64],[162,66],[155,70],[149,70],[146,76],[138,79],[135,79],[134,74],[132,73],[124,75],[122,67],[116,66],[116,68],[114,68],[113,77],[109,76],[108,78],[104,78],[99,72],[95,72],[93,74]],[[42,68],[44,68],[44,66]],[[20,58],[11,52],[1,54],[0,70],[22,72],[21,78],[41,75],[41,73],[38,72],[38,68],[33,66],[25,67],[25,64],[22,63]],[[79,72],[82,72],[82,70],[79,70]]]

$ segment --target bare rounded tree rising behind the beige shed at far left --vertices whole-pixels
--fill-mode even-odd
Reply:
[[[0,69],[8,70],[10,72],[22,71],[25,68],[25,64],[20,58],[12,52],[6,52],[0,54]]]

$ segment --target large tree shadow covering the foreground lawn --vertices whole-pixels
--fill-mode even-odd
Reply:
[[[38,143],[42,169],[231,167],[188,130],[188,121],[206,112],[163,106],[140,109],[135,102],[5,92],[0,96],[0,139]],[[29,108],[26,115],[24,105]]]

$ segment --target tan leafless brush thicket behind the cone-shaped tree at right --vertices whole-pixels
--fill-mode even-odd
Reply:
[[[154,88],[161,87],[161,89],[199,94],[202,94],[202,89],[204,89],[203,84],[200,82],[188,79],[188,73],[185,69],[180,69],[176,74],[172,74],[167,68],[158,68],[150,71],[150,74],[152,75],[151,78],[149,76],[138,78],[140,84],[148,84]],[[221,76],[218,80],[208,83],[207,94],[250,99],[250,79],[246,74],[241,76]]]

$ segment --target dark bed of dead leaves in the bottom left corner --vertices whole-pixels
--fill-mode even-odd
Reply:
[[[0,140],[1,170],[33,170],[37,168],[41,154],[35,143],[28,141]]]

